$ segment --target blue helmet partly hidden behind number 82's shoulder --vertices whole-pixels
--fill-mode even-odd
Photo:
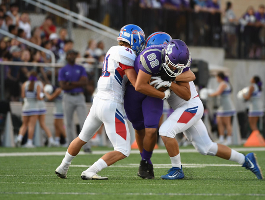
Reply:
[[[146,39],[145,46],[147,48],[151,45],[167,45],[170,40],[172,40],[172,38],[166,32],[154,32]]]

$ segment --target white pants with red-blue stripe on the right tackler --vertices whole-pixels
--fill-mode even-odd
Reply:
[[[213,142],[201,120],[203,112],[203,104],[199,97],[187,101],[164,121],[159,128],[159,135],[175,138],[178,133],[183,132],[198,152],[203,155],[215,155],[216,152],[209,152]]]

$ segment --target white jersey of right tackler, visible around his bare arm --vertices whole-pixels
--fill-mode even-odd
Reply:
[[[196,90],[196,86],[194,85],[193,81],[189,82],[190,87],[190,99],[195,98],[198,96],[198,92]],[[181,107],[186,103],[186,101],[182,98],[180,98],[178,95],[176,95],[173,91],[171,91],[170,97],[167,99],[168,104],[171,108],[176,110],[177,108]]]

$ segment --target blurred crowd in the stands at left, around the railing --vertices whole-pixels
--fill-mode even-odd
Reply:
[[[57,30],[51,16],[47,16],[41,26],[31,27],[28,13],[20,13],[17,4],[10,4],[9,8],[4,4],[0,5],[0,29],[52,51],[57,63],[65,64],[66,53],[74,48],[74,41],[68,38],[67,29],[60,28]],[[85,53],[80,53],[79,57],[96,58],[103,62],[105,57],[104,43],[89,40]],[[25,45],[16,38],[10,38],[0,33],[0,61],[51,63],[52,57],[45,52]],[[21,85],[27,81],[32,69],[38,72],[38,77],[44,84],[51,83],[51,67],[5,65],[3,77],[5,79],[6,100],[20,100]],[[90,68],[87,68],[87,73],[92,80],[94,77]],[[56,68],[55,74],[57,76],[58,68]],[[89,95],[91,95],[94,91],[93,81],[90,81],[88,88]]]

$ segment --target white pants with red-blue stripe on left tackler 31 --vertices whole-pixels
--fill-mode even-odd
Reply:
[[[123,104],[94,97],[79,139],[88,142],[102,123],[104,123],[107,137],[114,150],[128,157],[131,151],[131,136],[127,121],[124,119]]]

